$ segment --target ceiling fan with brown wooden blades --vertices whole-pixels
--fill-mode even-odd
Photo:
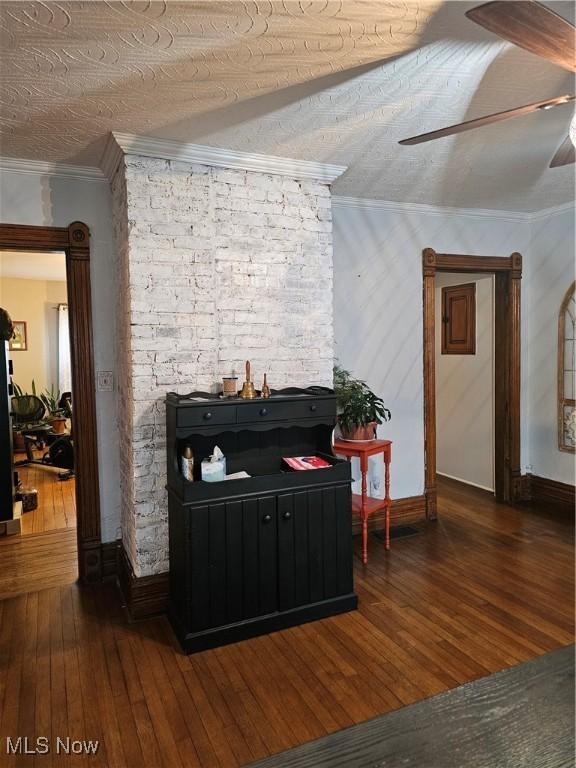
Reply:
[[[576,72],[576,57],[574,51],[574,33],[576,29],[570,22],[563,19],[554,11],[535,0],[495,0],[485,3],[466,12],[466,16],[476,24],[493,32],[505,40],[524,48],[526,51],[542,56],[548,61],[558,64],[570,72]],[[567,94],[546,101],[536,101],[523,107],[507,109],[492,115],[467,120],[464,123],[450,125],[429,133],[421,133],[409,139],[403,139],[400,144],[421,144],[425,141],[452,136],[455,133],[480,128],[491,123],[520,117],[538,110],[553,109],[559,104],[574,101],[576,96]],[[568,165],[576,160],[574,144],[567,136],[552,158],[550,168]]]

